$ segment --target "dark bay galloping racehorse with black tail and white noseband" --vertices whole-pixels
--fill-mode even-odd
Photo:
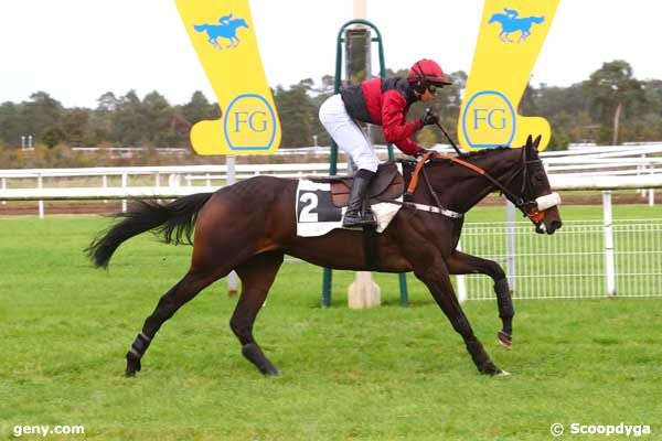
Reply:
[[[456,298],[450,275],[478,272],[493,279],[502,320],[498,338],[506,348],[512,347],[514,308],[499,263],[457,249],[463,214],[499,190],[532,220],[537,233],[553,234],[560,228],[557,207],[560,200],[552,193],[538,158],[538,144],[540,137],[535,141],[528,137],[521,149],[502,147],[459,157],[429,151],[418,162],[403,161],[407,195],[388,227],[377,235],[378,269],[393,273],[413,271],[425,283],[463,338],[481,374],[504,372],[494,365],[473,334]],[[213,193],[188,195],[170,203],[136,200],[128,212],[116,215],[120,220],[93,239],[86,252],[97,268],[106,268],[125,240],[148,230],[161,234],[169,244],[193,245],[188,272],[161,297],[131,344],[126,355],[126,376],[141,369],[140,361],[161,325],[201,290],[232,270],[242,281],[242,292],[229,326],[244,357],[260,373],[277,375],[279,370],[254,338],[253,324],[284,256],[327,268],[374,269],[366,261],[362,230],[333,229],[324,236],[297,236],[297,186],[295,179],[258,175]]]

